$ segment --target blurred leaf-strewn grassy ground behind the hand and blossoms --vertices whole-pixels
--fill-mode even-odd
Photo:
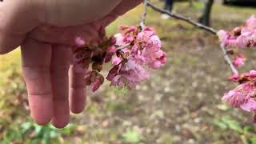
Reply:
[[[208,7],[208,25],[232,30],[256,12],[252,4],[239,6],[233,1],[246,2],[176,1],[173,10],[201,20]],[[163,1],[152,2],[164,6]],[[108,33],[116,34],[120,25],[137,25],[141,14],[138,6],[111,24]],[[256,143],[250,114],[221,100],[235,85],[226,81],[231,73],[218,39],[151,9],[146,24],[162,38],[166,66],[152,70],[150,80],[136,90],[110,88],[106,82],[98,92],[88,94],[86,110],[72,114],[63,130],[34,124],[21,77],[20,51],[1,55],[0,143]],[[246,50],[246,56],[252,59],[256,53]],[[255,61],[248,61],[242,70],[254,66]]]

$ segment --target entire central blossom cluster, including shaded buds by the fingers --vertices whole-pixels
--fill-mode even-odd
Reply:
[[[74,49],[74,68],[85,73],[85,82],[94,92],[105,78],[100,74],[103,64],[111,62],[106,79],[110,86],[134,89],[135,86],[150,78],[148,68],[159,69],[166,63],[166,53],[161,50],[162,42],[153,28],[145,26],[120,26],[120,33],[102,42],[86,44],[76,39],[78,48]],[[114,58],[112,58],[114,57]]]

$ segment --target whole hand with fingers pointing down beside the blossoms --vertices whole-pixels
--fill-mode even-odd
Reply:
[[[0,2],[0,54],[21,46],[31,116],[58,128],[70,110],[82,112],[86,89],[71,65],[74,38],[98,42],[98,31],[142,0],[4,0]]]

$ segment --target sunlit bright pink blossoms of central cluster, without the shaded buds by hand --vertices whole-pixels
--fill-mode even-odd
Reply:
[[[116,34],[116,38],[118,46],[126,43],[130,46],[118,50],[112,61],[114,67],[106,78],[111,86],[133,89],[150,77],[146,66],[158,69],[166,63],[166,53],[161,50],[160,38],[152,28],[146,26],[141,31],[139,26],[120,26],[120,34]]]

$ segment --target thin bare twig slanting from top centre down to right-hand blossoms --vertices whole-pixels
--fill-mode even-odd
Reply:
[[[167,14],[172,18],[176,18],[176,19],[188,22],[191,25],[198,27],[199,29],[206,30],[206,31],[210,32],[210,34],[214,34],[214,35],[217,34],[217,30],[214,30],[214,28],[202,25],[201,23],[198,23],[198,22],[194,22],[191,18],[186,18],[186,17],[184,17],[180,14],[175,14],[175,13],[170,12],[168,10],[163,10],[163,9],[159,8],[158,6],[154,6],[154,4],[152,4],[150,2],[147,2],[147,6],[150,6],[153,10],[156,10],[156,11],[162,13],[162,14]]]

